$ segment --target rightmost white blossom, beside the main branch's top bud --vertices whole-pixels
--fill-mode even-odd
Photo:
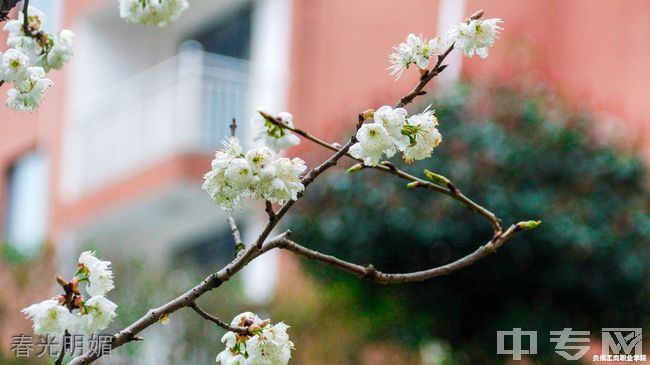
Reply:
[[[502,23],[499,18],[463,22],[449,28],[448,38],[450,42],[455,42],[454,48],[463,51],[467,57],[471,58],[476,53],[486,58],[499,30],[503,29],[499,23]]]

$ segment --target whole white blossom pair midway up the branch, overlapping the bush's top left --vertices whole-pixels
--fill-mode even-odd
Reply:
[[[407,117],[403,108],[382,106],[374,112],[373,123],[359,128],[355,144],[350,147],[352,157],[363,160],[367,166],[376,166],[382,157],[402,152],[406,162],[430,157],[442,142],[436,128],[438,118],[432,110]]]

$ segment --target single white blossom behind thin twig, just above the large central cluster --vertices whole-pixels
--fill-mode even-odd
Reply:
[[[263,111],[258,109],[258,111]],[[282,112],[276,116],[284,124],[293,128],[293,115],[289,112]],[[251,120],[253,127],[253,140],[262,141],[265,146],[274,152],[280,152],[287,148],[300,144],[300,138],[286,128],[274,125],[267,121],[260,114],[256,114]]]

